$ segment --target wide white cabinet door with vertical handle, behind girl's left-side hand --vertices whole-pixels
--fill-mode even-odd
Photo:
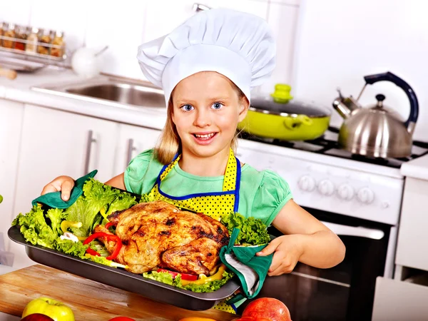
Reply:
[[[96,179],[113,176],[118,123],[26,105],[19,150],[14,216],[27,213],[31,200],[59,175],[79,178],[98,169]],[[14,267],[34,264],[24,247],[12,243]]]

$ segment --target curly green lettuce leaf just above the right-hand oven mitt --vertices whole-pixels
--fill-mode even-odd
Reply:
[[[239,228],[240,233],[236,238],[237,245],[263,245],[270,242],[267,226],[259,218],[244,218],[240,213],[223,215],[220,223],[228,228],[232,235],[234,228]]]

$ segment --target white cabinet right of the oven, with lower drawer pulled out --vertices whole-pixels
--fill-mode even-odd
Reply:
[[[377,278],[373,321],[428,319],[427,207],[428,181],[407,177],[394,280]]]

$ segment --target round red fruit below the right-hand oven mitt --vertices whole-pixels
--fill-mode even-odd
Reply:
[[[262,297],[250,302],[244,309],[243,317],[253,317],[253,319],[260,321],[263,319],[291,321],[290,311],[287,306],[273,297]]]

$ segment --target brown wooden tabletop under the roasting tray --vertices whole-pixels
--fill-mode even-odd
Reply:
[[[1,312],[20,317],[27,303],[41,296],[71,307],[76,321],[107,321],[118,315],[156,321],[180,320],[182,317],[227,321],[237,317],[214,309],[185,310],[44,265],[32,265],[0,275]]]

